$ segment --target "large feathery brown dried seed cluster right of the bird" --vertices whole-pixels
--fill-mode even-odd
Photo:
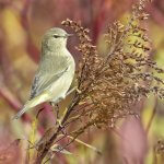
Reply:
[[[131,106],[143,96],[153,93],[164,97],[164,82],[155,75],[164,71],[152,61],[148,30],[141,26],[148,19],[144,5],[145,0],[141,0],[132,8],[132,16],[126,25],[116,21],[108,26],[105,38],[109,51],[106,57],[101,56],[92,45],[89,30],[74,21],[62,22],[80,39],[78,50],[82,60],[78,84],[81,92],[77,110],[81,110],[80,116],[89,118],[86,124],[98,128],[114,127],[119,118],[134,114]]]

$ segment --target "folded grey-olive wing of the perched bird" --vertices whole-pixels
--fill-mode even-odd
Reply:
[[[40,63],[40,65],[44,65],[44,63]],[[44,67],[44,70],[38,69],[34,78],[30,99],[34,98],[35,96],[39,95],[43,91],[51,86],[51,84],[56,82],[67,71],[69,67],[67,57],[60,57],[60,60],[57,59],[57,62],[55,62],[55,65],[52,65],[51,61],[49,61],[48,65],[49,66],[51,65],[51,68],[46,65],[40,66],[40,67]],[[61,65],[62,65],[62,68],[61,68]]]

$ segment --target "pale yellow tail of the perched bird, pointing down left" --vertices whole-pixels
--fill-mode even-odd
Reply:
[[[23,106],[23,108],[13,117],[13,119],[20,118],[25,112],[28,109],[35,107],[36,105],[44,103],[47,101],[47,94],[40,94],[39,96],[36,96],[35,98],[27,101],[27,103]]]

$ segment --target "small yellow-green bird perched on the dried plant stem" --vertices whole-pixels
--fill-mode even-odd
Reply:
[[[71,34],[58,27],[48,30],[43,36],[40,61],[30,99],[13,119],[20,118],[38,104],[44,102],[57,104],[67,96],[75,70],[74,59],[67,49],[69,36]]]

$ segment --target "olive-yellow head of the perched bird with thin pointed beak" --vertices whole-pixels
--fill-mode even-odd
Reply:
[[[42,46],[44,49],[46,48],[49,50],[66,48],[69,36],[71,36],[71,34],[68,34],[65,30],[52,27],[45,33]]]

